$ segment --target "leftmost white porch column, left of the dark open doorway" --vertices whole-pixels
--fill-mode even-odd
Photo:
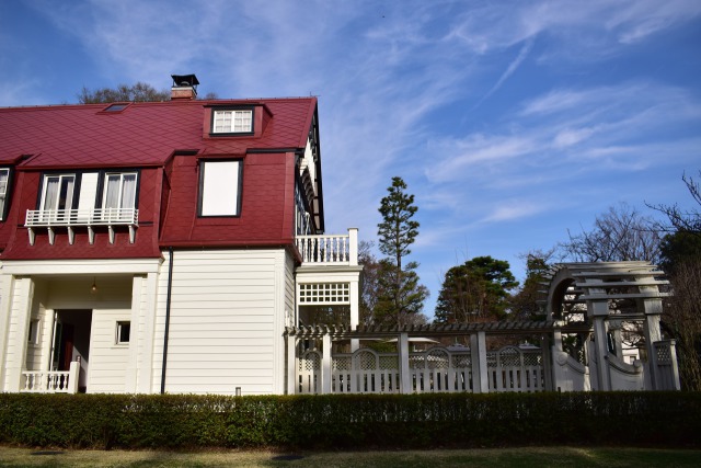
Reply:
[[[14,300],[18,305],[16,328],[14,333],[9,334],[8,345],[13,343],[14,352],[7,356],[7,385],[8,391],[20,391],[22,381],[22,369],[26,361],[27,333],[30,316],[32,315],[32,297],[34,296],[34,282],[31,277],[15,278],[13,288]],[[13,300],[13,296],[8,297],[8,301]],[[4,298],[3,298],[4,301]],[[8,330],[10,333],[10,330]]]

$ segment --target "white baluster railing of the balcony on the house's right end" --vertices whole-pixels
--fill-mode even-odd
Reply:
[[[358,264],[358,230],[347,235],[297,236],[297,250],[303,264]]]

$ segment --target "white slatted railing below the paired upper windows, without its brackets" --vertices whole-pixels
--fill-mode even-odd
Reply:
[[[138,218],[136,208],[27,209],[24,226],[136,226]]]

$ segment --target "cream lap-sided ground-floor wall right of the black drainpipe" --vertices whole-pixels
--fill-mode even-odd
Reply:
[[[168,253],[159,284],[154,381],[160,385]],[[165,391],[274,392],[280,250],[174,251]]]

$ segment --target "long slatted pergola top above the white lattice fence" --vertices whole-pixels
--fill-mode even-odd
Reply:
[[[587,332],[591,326],[586,322],[563,323],[561,321],[504,321],[473,322],[458,324],[422,324],[403,327],[358,326],[356,329],[345,326],[300,326],[286,327],[286,336],[301,339],[321,338],[330,334],[335,339],[363,339],[397,335],[406,333],[410,336],[449,336],[485,332],[487,334],[526,334],[551,333],[561,330],[563,333]]]

